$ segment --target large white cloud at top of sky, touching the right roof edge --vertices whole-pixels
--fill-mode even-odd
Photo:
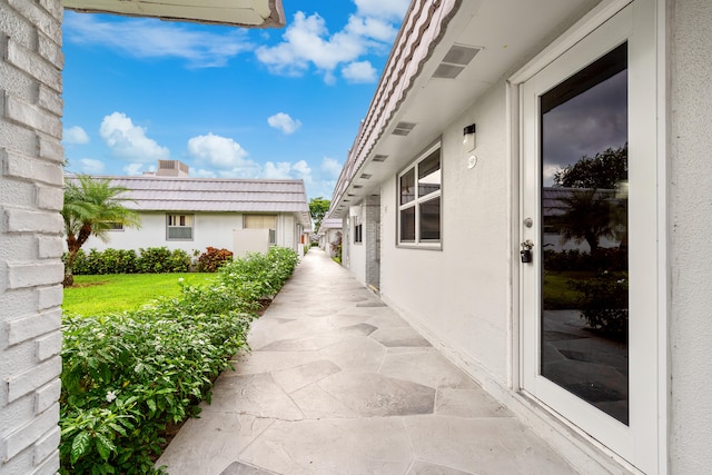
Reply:
[[[257,59],[273,72],[299,76],[312,67],[324,75],[326,82],[334,82],[334,71],[343,65],[349,80],[364,81],[366,71],[362,57],[386,55],[390,41],[397,34],[396,22],[400,21],[408,6],[407,0],[356,2],[358,11],[352,14],[343,30],[329,33],[326,21],[318,13],[306,16],[298,11],[283,34],[283,42],[274,47],[257,48]]]

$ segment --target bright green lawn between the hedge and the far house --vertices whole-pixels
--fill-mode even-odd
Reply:
[[[196,285],[209,281],[215,274],[111,274],[75,276],[75,285],[65,289],[62,308],[70,314],[107,315],[136,310],[158,297],[180,293],[178,279]]]

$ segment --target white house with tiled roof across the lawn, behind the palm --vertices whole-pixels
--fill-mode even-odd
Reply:
[[[182,172],[164,175],[179,168]],[[138,211],[141,227],[117,227],[107,234],[106,243],[91,237],[83,248],[165,246],[192,254],[210,246],[241,255],[283,246],[304,255],[312,218],[301,180],[187,175],[184,164],[161,161],[155,176],[97,177],[110,178],[111,185],[129,190],[123,195],[125,206]]]

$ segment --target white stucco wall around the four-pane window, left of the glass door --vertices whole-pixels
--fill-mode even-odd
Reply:
[[[468,123],[477,125],[473,169],[462,152]],[[505,131],[504,82],[444,131],[442,250],[396,247],[395,178],[382,184],[380,200],[384,300],[502,385],[510,316]]]

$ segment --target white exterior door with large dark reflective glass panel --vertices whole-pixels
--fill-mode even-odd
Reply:
[[[649,474],[660,472],[654,31],[654,2],[635,0],[520,89],[532,246],[522,388]]]

